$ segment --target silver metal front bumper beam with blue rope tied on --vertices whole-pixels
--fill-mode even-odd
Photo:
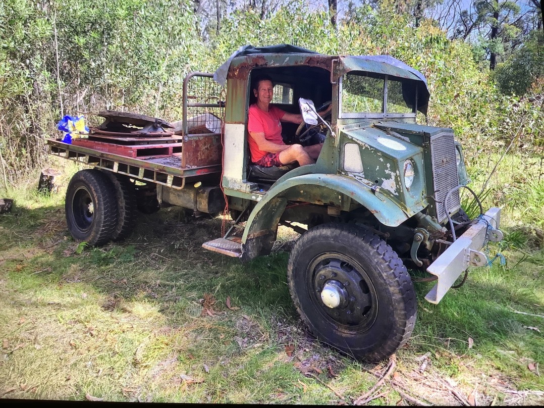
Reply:
[[[469,265],[483,266],[487,263],[487,257],[479,250],[490,240],[502,239],[499,223],[500,208],[490,208],[429,265],[427,271],[437,277],[437,282],[425,296],[427,301],[436,305]]]

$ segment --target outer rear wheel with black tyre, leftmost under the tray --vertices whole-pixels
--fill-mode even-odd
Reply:
[[[71,236],[89,245],[104,245],[117,225],[117,204],[112,182],[98,170],[73,175],[66,190],[66,224]]]

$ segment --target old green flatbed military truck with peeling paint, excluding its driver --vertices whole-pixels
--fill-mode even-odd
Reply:
[[[316,164],[249,162],[251,85],[262,74],[274,81],[273,103],[310,118],[285,124],[283,136],[287,144],[323,141]],[[472,221],[462,211],[461,146],[452,129],[418,125],[428,101],[421,73],[388,56],[246,46],[214,75],[187,76],[179,129],[163,121],[152,134],[142,132],[145,122],[134,131],[126,115],[103,113],[106,125],[88,139],[48,143],[92,167],[66,193],[76,240],[127,236],[137,206],[195,214],[228,206],[232,226],[202,246],[245,261],[269,254],[278,225],[290,226],[301,233],[287,276],[302,320],[332,347],[377,361],[405,344],[416,322],[406,267],[435,277],[425,299],[437,304],[469,266],[487,263],[487,242],[502,239],[499,208],[480,208]],[[328,116],[318,117],[327,104]]]

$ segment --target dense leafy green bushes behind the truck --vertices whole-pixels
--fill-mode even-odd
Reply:
[[[186,73],[213,72],[245,44],[390,54],[426,76],[431,93],[426,121],[452,127],[469,162],[514,138],[527,152],[535,151],[542,139],[542,111],[498,91],[474,59],[484,48],[450,41],[434,21],[413,27],[412,15],[398,2],[372,4],[351,4],[336,27],[328,10],[300,0],[265,16],[240,8],[222,16],[219,32],[208,30],[203,40],[189,0],[75,0],[47,7],[38,0],[5,0],[0,5],[0,185],[7,189],[46,162],[45,139],[58,135],[55,124],[62,113],[114,109],[180,120]],[[527,70],[540,75],[544,64],[533,58],[541,55],[540,48],[535,35],[499,67],[494,78],[500,89],[512,78],[524,81]],[[99,120],[86,119],[90,125]]]

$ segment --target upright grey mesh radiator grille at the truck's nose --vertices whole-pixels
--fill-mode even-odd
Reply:
[[[448,191],[459,185],[459,175],[455,160],[455,142],[452,133],[441,133],[431,138],[431,159],[433,187],[436,197],[436,219],[444,221],[444,199]],[[459,190],[449,195],[448,212],[453,213],[460,208]]]

